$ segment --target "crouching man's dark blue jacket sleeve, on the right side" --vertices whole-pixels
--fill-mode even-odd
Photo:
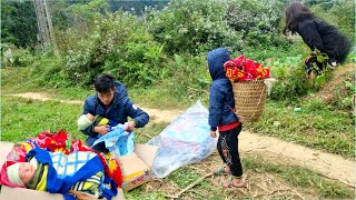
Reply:
[[[137,128],[145,127],[149,121],[149,116],[147,112],[138,108],[130,100],[126,103],[125,107],[128,116],[136,122]]]

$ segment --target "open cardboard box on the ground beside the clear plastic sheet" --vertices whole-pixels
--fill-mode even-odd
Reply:
[[[151,168],[158,147],[135,143],[135,153],[118,159],[122,176],[125,191],[137,188],[151,180]]]

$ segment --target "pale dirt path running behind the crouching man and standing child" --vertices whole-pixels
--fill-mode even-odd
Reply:
[[[41,101],[52,100],[43,93],[28,92],[12,96]],[[66,100],[61,100],[60,102],[82,103],[82,101]],[[151,117],[150,123],[171,122],[182,113],[180,110],[142,109]],[[355,188],[355,162],[354,160],[348,160],[340,156],[326,153],[296,143],[286,142],[277,138],[247,131],[240,133],[240,151],[241,154],[260,154],[273,162],[300,166]]]

